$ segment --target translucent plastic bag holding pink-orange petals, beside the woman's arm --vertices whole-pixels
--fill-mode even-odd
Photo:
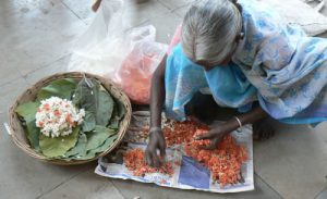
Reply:
[[[113,80],[133,103],[149,103],[152,77],[166,52],[167,45],[155,41],[136,42],[117,70]]]

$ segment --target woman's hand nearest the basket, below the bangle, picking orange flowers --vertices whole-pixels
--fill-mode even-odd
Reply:
[[[166,141],[160,128],[156,128],[149,133],[149,141],[145,150],[145,161],[150,166],[159,167],[162,164],[157,150],[160,151],[161,158],[166,156]]]

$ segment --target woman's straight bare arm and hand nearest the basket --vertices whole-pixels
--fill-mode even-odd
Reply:
[[[149,141],[146,147],[146,163],[150,166],[160,166],[161,160],[157,154],[157,149],[160,156],[166,154],[166,141],[161,130],[161,112],[165,102],[165,67],[167,55],[162,59],[158,69],[154,73],[150,89],[150,129]]]

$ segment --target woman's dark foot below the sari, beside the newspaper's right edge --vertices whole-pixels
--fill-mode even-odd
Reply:
[[[266,140],[275,135],[275,127],[268,119],[259,120],[253,123],[253,139]]]

